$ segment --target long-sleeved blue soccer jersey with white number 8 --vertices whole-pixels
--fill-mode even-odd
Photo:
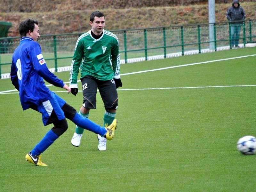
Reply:
[[[23,110],[52,99],[52,92],[43,79],[57,87],[64,86],[63,81],[47,68],[40,45],[30,37],[21,38],[12,56],[11,80],[20,91]]]

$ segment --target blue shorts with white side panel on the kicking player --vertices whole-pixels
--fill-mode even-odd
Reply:
[[[53,111],[57,116],[56,120],[62,120],[65,118],[64,112],[61,109],[65,103],[65,100],[52,92],[52,98],[50,100],[44,101],[37,106],[37,111],[42,113],[42,121],[44,126],[52,123],[49,121],[49,118]]]

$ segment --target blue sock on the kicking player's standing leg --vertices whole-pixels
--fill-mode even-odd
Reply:
[[[56,135],[52,130],[48,131],[44,138],[33,148],[31,154],[36,156],[40,155],[58,138],[58,135]]]

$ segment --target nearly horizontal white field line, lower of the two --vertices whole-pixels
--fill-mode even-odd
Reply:
[[[219,86],[197,86],[197,87],[164,87],[164,88],[140,88],[140,89],[117,89],[117,91],[137,91],[137,90],[159,90],[159,89],[198,89],[198,88],[218,88],[218,87],[253,87],[256,85],[219,85]],[[17,90],[16,90],[17,91]],[[97,90],[99,91],[99,90]],[[62,93],[67,91],[54,91]],[[82,91],[78,91],[82,92]],[[19,92],[0,92],[0,94],[18,94]]]

